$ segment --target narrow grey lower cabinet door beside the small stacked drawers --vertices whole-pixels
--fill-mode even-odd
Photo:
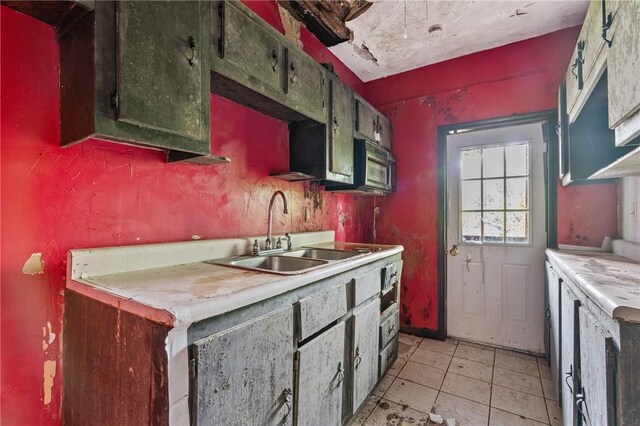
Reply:
[[[353,412],[378,382],[378,326],[380,299],[353,312]]]

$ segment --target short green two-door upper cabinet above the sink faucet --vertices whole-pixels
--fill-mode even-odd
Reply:
[[[211,8],[211,90],[287,120],[326,122],[324,68],[239,1]]]

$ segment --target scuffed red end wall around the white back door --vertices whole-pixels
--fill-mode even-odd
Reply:
[[[438,126],[555,109],[578,33],[570,28],[365,84],[365,96],[393,122],[398,189],[380,201],[377,234],[405,248],[403,324],[438,328]],[[594,202],[606,205],[586,211]],[[560,188],[559,242],[601,241],[603,223],[615,233],[615,205],[611,185]],[[578,230],[580,241],[571,237]]]

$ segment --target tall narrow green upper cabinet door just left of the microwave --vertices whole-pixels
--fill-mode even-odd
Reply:
[[[353,92],[337,78],[331,78],[331,113],[327,124],[329,172],[345,183],[353,182]]]

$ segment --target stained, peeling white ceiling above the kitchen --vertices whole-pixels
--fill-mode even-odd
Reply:
[[[588,0],[374,1],[347,22],[353,40],[331,47],[363,81],[579,25],[589,6]],[[430,33],[436,24],[442,31]]]

